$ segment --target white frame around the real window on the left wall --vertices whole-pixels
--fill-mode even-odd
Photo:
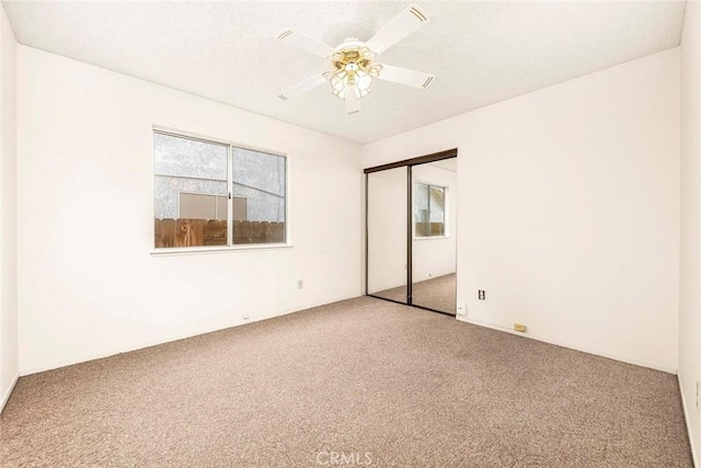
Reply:
[[[194,132],[182,130],[177,128],[153,125],[151,128],[151,220],[156,219],[156,203],[154,203],[154,189],[156,189],[156,147],[153,135],[162,134],[172,137],[188,138],[196,141],[203,141],[214,145],[227,146],[227,246],[197,246],[197,247],[162,247],[156,248],[153,244],[153,222],[151,221],[151,255],[180,255],[192,253],[216,253],[216,252],[237,252],[237,251],[254,251],[254,250],[279,250],[290,249],[294,247],[290,237],[290,220],[289,220],[289,205],[290,205],[290,170],[289,158],[286,152],[272,150],[267,148],[255,147],[252,145],[244,145],[238,141],[229,140],[227,138],[212,137],[209,135],[203,135]],[[285,158],[285,242],[276,243],[233,243],[233,150],[234,148],[244,149],[249,151],[264,152],[272,156]],[[179,201],[180,203],[180,201]],[[229,216],[231,215],[231,216]]]

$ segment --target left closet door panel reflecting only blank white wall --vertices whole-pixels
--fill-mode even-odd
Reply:
[[[367,294],[406,304],[407,168],[367,175]]]

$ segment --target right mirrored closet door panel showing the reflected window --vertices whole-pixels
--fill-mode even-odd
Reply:
[[[457,158],[412,167],[412,305],[456,313]]]

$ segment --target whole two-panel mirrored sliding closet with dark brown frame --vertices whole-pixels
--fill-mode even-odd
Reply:
[[[366,173],[366,294],[456,315],[457,150]]]

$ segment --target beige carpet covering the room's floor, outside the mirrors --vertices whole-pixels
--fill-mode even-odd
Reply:
[[[675,376],[367,297],[23,377],[0,416],[0,456],[691,467]]]

